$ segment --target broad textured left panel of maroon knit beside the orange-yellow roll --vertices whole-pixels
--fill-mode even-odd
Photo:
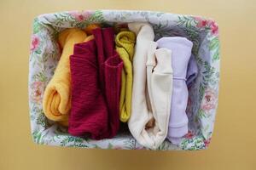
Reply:
[[[108,107],[98,80],[95,40],[74,45],[70,56],[71,113],[68,133],[73,136],[105,138],[108,133]]]

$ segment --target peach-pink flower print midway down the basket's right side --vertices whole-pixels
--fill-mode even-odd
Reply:
[[[212,89],[207,89],[205,91],[205,96],[202,99],[202,109],[204,111],[210,111],[215,108],[217,103],[217,95]]]

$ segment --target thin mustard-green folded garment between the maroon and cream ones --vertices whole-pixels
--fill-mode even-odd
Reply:
[[[132,58],[136,35],[132,31],[120,31],[115,38],[116,51],[124,62],[120,93],[120,121],[127,122],[131,116]]]

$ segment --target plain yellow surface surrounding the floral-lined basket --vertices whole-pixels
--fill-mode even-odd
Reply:
[[[32,20],[73,9],[149,9],[218,22],[221,82],[208,150],[86,150],[32,143],[27,75]],[[0,0],[0,170],[256,169],[256,2]]]

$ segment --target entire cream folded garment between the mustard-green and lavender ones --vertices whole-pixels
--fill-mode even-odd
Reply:
[[[148,23],[130,23],[128,27],[137,34],[133,59],[131,118],[128,126],[139,144],[157,149],[166,139],[170,116],[171,51],[156,49],[157,43],[153,42],[154,31]]]

